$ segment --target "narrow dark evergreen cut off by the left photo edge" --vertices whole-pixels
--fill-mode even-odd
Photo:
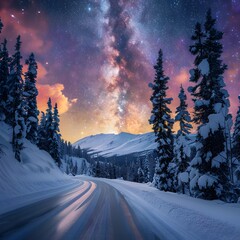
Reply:
[[[8,76],[9,76],[9,55],[7,50],[7,40],[3,42],[0,52],[0,119],[5,120],[6,104],[8,100]]]

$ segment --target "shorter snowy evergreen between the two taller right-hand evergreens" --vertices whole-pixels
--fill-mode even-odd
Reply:
[[[176,190],[185,193],[188,189],[189,176],[189,138],[188,134],[192,129],[191,117],[187,110],[187,96],[181,85],[180,93],[178,95],[180,105],[177,107],[175,122],[179,123],[179,130],[177,132],[175,144],[174,144],[174,175]]]

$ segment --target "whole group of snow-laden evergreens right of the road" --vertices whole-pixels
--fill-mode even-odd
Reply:
[[[179,106],[175,119],[169,108],[172,98],[167,97],[168,81],[163,69],[163,53],[159,51],[154,66],[152,115],[149,119],[158,143],[153,184],[163,191],[181,192],[203,199],[237,201],[239,197],[240,163],[240,107],[231,135],[232,116],[229,114],[229,94],[223,74],[227,65],[221,55],[223,32],[215,27],[216,19],[207,11],[205,23],[195,25],[189,47],[195,57],[190,70],[188,88],[194,103],[193,118],[188,112],[187,97],[180,86]],[[240,98],[239,98],[240,100]],[[176,136],[173,124],[179,124]],[[189,134],[197,125],[196,139]],[[190,146],[194,146],[192,156]]]

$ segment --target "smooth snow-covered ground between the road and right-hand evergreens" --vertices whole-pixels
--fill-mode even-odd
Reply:
[[[240,239],[240,204],[195,199],[123,180],[101,181],[119,190],[137,217],[147,219],[149,226],[146,227],[153,231],[160,229],[164,233],[170,226],[183,239]]]

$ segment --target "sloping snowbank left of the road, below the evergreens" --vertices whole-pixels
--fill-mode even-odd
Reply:
[[[10,142],[11,128],[0,122],[0,213],[79,184],[63,174],[47,152],[27,140],[18,162]]]

